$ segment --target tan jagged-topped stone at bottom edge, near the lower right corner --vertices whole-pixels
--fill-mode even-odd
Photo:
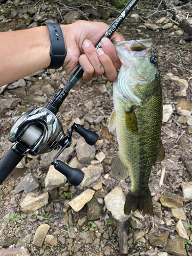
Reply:
[[[164,252],[175,256],[186,256],[187,253],[185,251],[185,244],[183,238],[177,235],[174,242],[172,241],[172,239],[169,239],[167,241]]]

